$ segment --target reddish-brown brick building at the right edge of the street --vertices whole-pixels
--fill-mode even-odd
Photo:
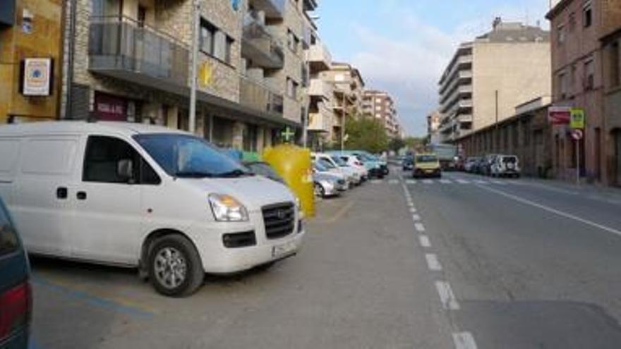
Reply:
[[[557,178],[573,179],[578,172],[592,182],[618,183],[618,73],[613,63],[618,61],[615,31],[621,27],[620,8],[617,0],[562,0],[548,12],[553,105],[582,108],[586,114],[584,138],[578,147],[568,125],[555,125]]]

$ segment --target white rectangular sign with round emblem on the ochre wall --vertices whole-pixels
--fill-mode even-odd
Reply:
[[[52,59],[24,59],[22,94],[24,96],[49,96],[52,94]]]

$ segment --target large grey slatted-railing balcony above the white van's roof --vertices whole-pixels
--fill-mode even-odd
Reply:
[[[102,75],[157,89],[188,86],[188,48],[131,18],[92,18],[88,54],[90,71]]]

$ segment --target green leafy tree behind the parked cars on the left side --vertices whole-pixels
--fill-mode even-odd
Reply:
[[[366,150],[377,154],[388,149],[384,125],[375,118],[351,118],[345,125],[347,149]]]

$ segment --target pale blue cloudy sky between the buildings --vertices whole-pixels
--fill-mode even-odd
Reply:
[[[315,15],[332,60],[360,69],[368,89],[392,94],[406,133],[420,136],[459,43],[491,30],[498,16],[548,28],[548,1],[322,0]]]

